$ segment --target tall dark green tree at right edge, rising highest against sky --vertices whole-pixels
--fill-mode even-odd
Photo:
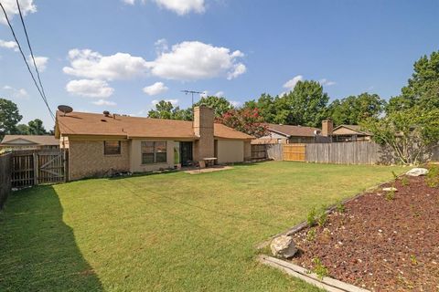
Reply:
[[[425,110],[439,109],[439,51],[423,56],[413,65],[412,78],[401,95],[389,100],[387,112],[419,106]]]

